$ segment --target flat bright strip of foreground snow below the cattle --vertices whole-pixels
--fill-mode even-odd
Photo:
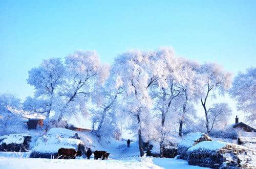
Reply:
[[[3,154],[1,154],[3,155]],[[188,165],[185,160],[169,159],[169,158],[151,158],[151,157],[131,157],[121,158],[119,160],[86,160],[86,159],[43,159],[43,158],[15,158],[15,157],[0,157],[0,168],[203,168],[199,166]]]

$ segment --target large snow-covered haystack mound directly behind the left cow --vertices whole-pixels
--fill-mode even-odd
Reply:
[[[31,150],[30,157],[56,158],[60,148],[75,149],[84,154],[84,144],[75,131],[52,128],[47,135],[39,137]]]

